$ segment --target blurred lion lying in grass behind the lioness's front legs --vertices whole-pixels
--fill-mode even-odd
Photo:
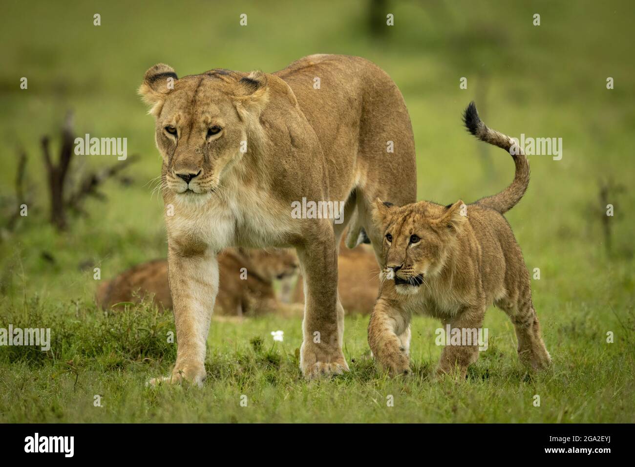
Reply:
[[[297,315],[298,304],[279,302],[273,286],[276,279],[295,276],[297,268],[297,258],[291,250],[227,248],[218,255],[221,280],[214,312],[234,316],[274,312]],[[137,264],[102,283],[95,298],[99,306],[108,309],[121,302],[139,302],[149,295],[159,308],[172,308],[168,261],[164,259]]]

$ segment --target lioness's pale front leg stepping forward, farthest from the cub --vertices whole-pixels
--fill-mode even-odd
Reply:
[[[201,386],[211,313],[218,293],[218,261],[209,250],[184,255],[168,246],[168,276],[177,328],[177,363],[171,377],[157,382],[187,379]]]

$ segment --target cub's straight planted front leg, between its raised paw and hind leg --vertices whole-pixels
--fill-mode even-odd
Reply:
[[[457,316],[443,322],[444,327],[450,324],[450,332],[458,329],[462,338],[464,335],[465,337],[469,335],[471,342],[462,340],[460,345],[452,345],[451,342],[446,342],[441,352],[437,376],[455,374],[460,379],[465,379],[467,367],[478,360],[478,330],[483,325],[485,309],[485,304],[468,307],[459,311]]]

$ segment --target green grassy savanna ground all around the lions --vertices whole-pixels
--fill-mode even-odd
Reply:
[[[0,327],[50,327],[51,350],[0,348],[3,422],[634,422],[634,259],[630,189],[635,168],[632,6],[624,2],[390,2],[395,25],[368,34],[366,2],[300,4],[38,1],[3,3],[0,182],[4,219],[15,208],[17,147],[30,156],[34,201],[0,242]],[[93,25],[100,13],[102,25]],[[239,26],[239,15],[248,25]],[[532,24],[540,13],[541,25]],[[267,316],[213,321],[203,388],[147,388],[168,374],[170,314],[149,306],[105,315],[93,302],[102,278],[155,257],[166,238],[151,179],[161,159],[154,123],[136,95],[157,62],[180,75],[213,67],[267,72],[311,53],[361,55],[401,88],[415,132],[418,196],[476,200],[512,178],[509,156],[465,133],[474,99],[491,127],[519,137],[561,137],[563,158],[533,156],[525,198],[508,215],[530,268],[533,300],[554,366],[519,365],[511,323],[490,309],[489,348],[467,380],[434,381],[437,321],[413,321],[414,374],[389,379],[368,358],[368,317],[346,320],[351,372],[305,382],[300,322]],[[29,79],[20,90],[21,77]],[[467,78],[467,90],[459,79]],[[606,79],[615,89],[606,89]],[[74,109],[78,135],[127,137],[142,161],[110,180],[107,201],[65,233],[48,224],[39,138],[57,135]],[[57,140],[54,141],[57,144]],[[114,162],[77,156],[74,171]],[[612,179],[615,216],[599,184]],[[284,330],[274,342],[272,330]],[[614,342],[607,342],[607,332]],[[102,407],[95,407],[95,395]],[[245,395],[246,407],[241,406]],[[394,407],[387,406],[387,396]],[[535,395],[540,407],[535,407]],[[244,399],[244,398],[243,398]]]

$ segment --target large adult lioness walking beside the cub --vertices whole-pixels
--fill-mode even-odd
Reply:
[[[363,58],[311,55],[273,74],[215,69],[178,79],[157,64],[139,92],[152,105],[163,156],[178,340],[166,380],[205,377],[216,255],[229,246],[296,248],[307,297],[300,368],[308,379],[347,370],[337,297],[342,231],[351,224],[354,247],[365,229],[382,261],[373,200],[416,200],[414,139],[395,83]],[[292,215],[304,201],[330,203],[330,212]]]

